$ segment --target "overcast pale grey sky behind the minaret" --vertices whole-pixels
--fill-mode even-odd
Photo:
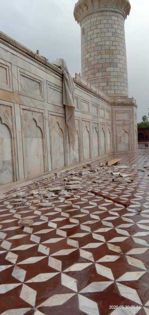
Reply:
[[[1,1],[0,30],[54,61],[64,58],[72,75],[81,72],[80,26],[73,17],[77,0]],[[125,21],[129,96],[138,104],[138,121],[149,107],[149,1],[130,0]]]

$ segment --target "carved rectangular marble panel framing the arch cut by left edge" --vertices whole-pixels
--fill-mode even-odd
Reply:
[[[13,182],[11,107],[0,105],[0,185]]]

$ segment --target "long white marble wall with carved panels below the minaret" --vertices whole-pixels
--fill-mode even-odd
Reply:
[[[127,111],[126,106],[111,105],[100,91],[75,79],[77,136],[73,150],[62,104],[61,71],[17,47],[4,42],[0,33],[1,188],[113,151],[137,149],[134,107]]]

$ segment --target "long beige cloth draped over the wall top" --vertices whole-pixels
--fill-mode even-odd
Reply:
[[[66,61],[62,58],[57,58],[52,62],[55,66],[63,71],[63,105],[65,105],[66,124],[69,132],[69,143],[74,148],[76,141],[76,120],[75,120],[75,104],[74,90],[76,88],[73,78],[68,71]]]

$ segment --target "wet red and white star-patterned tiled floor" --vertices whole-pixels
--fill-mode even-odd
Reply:
[[[72,198],[33,206],[30,191],[63,185],[71,178],[63,173],[25,186],[22,203],[14,192],[0,200],[1,314],[149,314],[149,171],[131,167],[149,165],[149,149],[122,157],[131,184],[113,183],[103,169],[101,184],[83,175]],[[130,206],[94,196],[90,187]],[[19,227],[20,218],[34,223]]]

